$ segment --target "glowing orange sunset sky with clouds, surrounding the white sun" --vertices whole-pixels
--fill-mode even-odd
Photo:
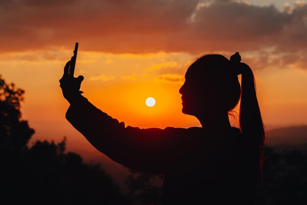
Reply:
[[[126,125],[200,126],[181,113],[185,71],[236,51],[254,71],[267,129],[307,124],[307,1],[2,0],[0,13],[0,75],[26,90],[33,140],[93,149],[65,119],[59,87],[75,42],[83,95]]]

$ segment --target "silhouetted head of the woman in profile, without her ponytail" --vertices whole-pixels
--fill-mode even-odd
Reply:
[[[240,99],[241,87],[229,59],[205,55],[190,65],[179,92],[182,112],[199,117],[233,109]]]

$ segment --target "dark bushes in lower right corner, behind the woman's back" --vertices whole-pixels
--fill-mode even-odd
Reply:
[[[256,205],[307,204],[307,150],[264,149],[263,183]]]

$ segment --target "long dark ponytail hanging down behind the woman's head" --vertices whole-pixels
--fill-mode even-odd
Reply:
[[[240,62],[239,53],[230,57],[233,67],[236,67],[236,74],[242,74],[241,78],[241,104],[240,104],[240,129],[253,147],[255,157],[255,175],[257,185],[262,179],[263,148],[265,134],[260,114],[259,104],[256,97],[255,78],[252,69],[245,63]],[[254,161],[254,159],[253,159]]]

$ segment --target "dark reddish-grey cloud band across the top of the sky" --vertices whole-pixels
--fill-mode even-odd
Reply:
[[[1,52],[72,48],[113,53],[307,49],[307,3],[291,12],[231,0],[19,0],[0,12]],[[306,52],[303,52],[304,54]],[[301,55],[301,54],[300,54]],[[260,57],[259,57],[260,58]],[[294,57],[283,59],[291,62]]]

